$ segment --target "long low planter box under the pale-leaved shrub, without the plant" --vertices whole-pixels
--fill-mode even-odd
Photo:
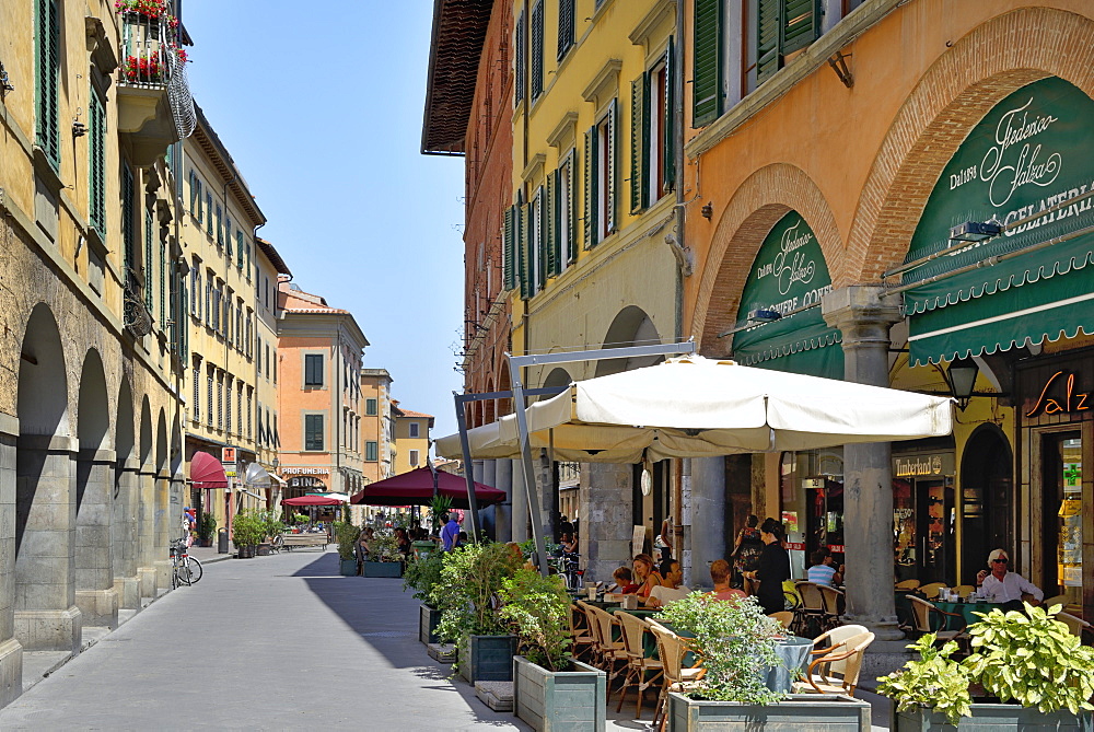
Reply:
[[[683,694],[668,695],[670,732],[760,729],[870,732],[870,705],[842,694],[792,694],[766,707],[740,701],[693,701]]]

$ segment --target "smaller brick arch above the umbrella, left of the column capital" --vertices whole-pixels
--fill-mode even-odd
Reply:
[[[707,356],[724,356],[718,334],[733,327],[741,291],[764,237],[788,211],[798,211],[817,237],[833,284],[843,280],[843,244],[831,208],[816,183],[800,167],[766,165],[734,191],[718,219],[696,297],[691,335]]]

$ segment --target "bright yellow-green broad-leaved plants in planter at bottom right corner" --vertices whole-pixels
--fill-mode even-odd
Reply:
[[[1094,649],[1055,618],[1060,609],[1026,604],[1024,612],[977,613],[984,619],[968,627],[973,653],[961,662],[951,658],[956,643],[935,649],[933,634],[909,646],[920,660],[877,685],[895,704],[893,729],[1090,730]],[[998,702],[974,702],[970,685]]]

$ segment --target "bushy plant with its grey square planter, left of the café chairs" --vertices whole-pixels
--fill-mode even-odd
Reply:
[[[520,568],[502,580],[500,616],[521,639],[513,657],[516,716],[536,730],[605,728],[607,675],[571,657],[570,597],[557,574]]]

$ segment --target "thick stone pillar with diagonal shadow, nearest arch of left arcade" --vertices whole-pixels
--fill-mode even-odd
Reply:
[[[27,651],[80,651],[73,443],[67,437],[19,438],[15,511],[25,519],[15,557],[15,638]]]

